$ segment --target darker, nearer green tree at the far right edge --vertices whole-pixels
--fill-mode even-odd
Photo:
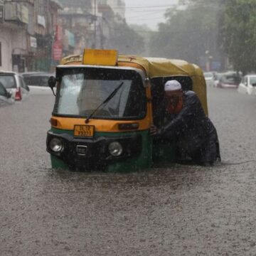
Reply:
[[[256,0],[227,0],[223,46],[235,70],[256,70]]]

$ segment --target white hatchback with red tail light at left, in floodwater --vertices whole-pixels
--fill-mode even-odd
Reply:
[[[21,75],[16,72],[0,71],[0,82],[14,100],[23,100],[29,94],[29,87]]]

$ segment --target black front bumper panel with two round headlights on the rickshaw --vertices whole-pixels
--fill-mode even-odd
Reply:
[[[104,171],[112,163],[138,157],[142,153],[142,135],[77,138],[48,131],[46,150],[69,169]]]

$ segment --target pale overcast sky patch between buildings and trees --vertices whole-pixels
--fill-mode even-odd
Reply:
[[[147,24],[156,30],[157,23],[164,22],[164,13],[168,7],[177,4],[178,0],[124,0],[127,23]]]

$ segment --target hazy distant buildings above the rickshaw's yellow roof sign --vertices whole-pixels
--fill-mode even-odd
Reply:
[[[58,24],[73,33],[75,46],[63,43],[63,54],[80,54],[84,48],[107,48],[114,23],[125,22],[123,0],[59,0]],[[64,40],[66,41],[66,40]]]

